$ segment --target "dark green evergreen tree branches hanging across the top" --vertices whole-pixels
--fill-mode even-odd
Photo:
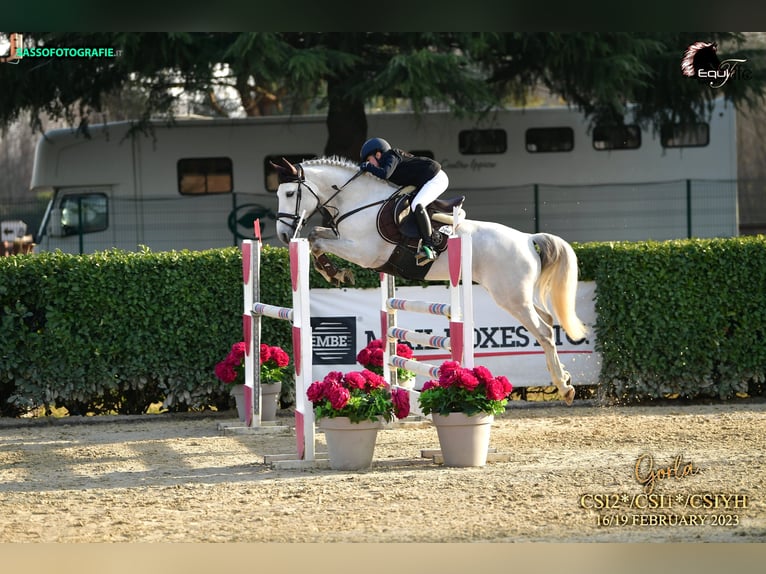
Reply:
[[[681,74],[696,41],[721,60],[746,60],[719,88]],[[55,52],[0,66],[0,125],[31,112],[87,130],[100,119],[147,120],[187,111],[217,115],[326,113],[325,153],[355,157],[366,110],[407,102],[456,114],[525,105],[536,91],[593,123],[655,128],[704,119],[719,96],[738,107],[763,96],[763,52],[741,33],[200,32],[32,33],[26,48],[104,47],[110,57]]]

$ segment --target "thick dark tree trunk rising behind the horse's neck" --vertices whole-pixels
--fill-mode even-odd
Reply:
[[[347,97],[346,83],[331,80],[327,86],[327,145],[325,155],[338,155],[359,161],[359,150],[367,139],[364,102]]]

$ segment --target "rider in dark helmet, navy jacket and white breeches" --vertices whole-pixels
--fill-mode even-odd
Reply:
[[[415,214],[421,239],[416,262],[418,265],[426,265],[433,261],[436,253],[426,206],[444,193],[449,185],[449,179],[441,165],[430,158],[414,156],[401,149],[392,148],[382,138],[368,139],[359,155],[361,170],[396,185],[415,186],[417,192],[412,199],[411,209]]]

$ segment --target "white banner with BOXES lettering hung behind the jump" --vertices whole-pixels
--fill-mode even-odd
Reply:
[[[556,349],[575,385],[598,382],[601,358],[595,351],[593,326],[596,284],[580,282],[577,291],[577,314],[589,328],[583,342],[570,341],[564,330],[555,325]],[[449,288],[397,287],[396,297],[436,303],[449,303]],[[498,307],[486,290],[473,287],[474,356],[476,365],[484,365],[495,375],[505,375],[514,387],[551,385],[542,347],[508,312]],[[312,289],[311,326],[314,345],[313,380],[330,371],[354,371],[362,367],[356,354],[380,332],[380,289]],[[446,318],[421,313],[397,311],[399,327],[432,335],[449,335]],[[440,365],[450,358],[447,351],[412,345],[419,361]],[[426,381],[418,376],[416,388]]]

